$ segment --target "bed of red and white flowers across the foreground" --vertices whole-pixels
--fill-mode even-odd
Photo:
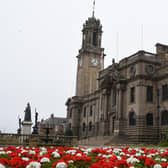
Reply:
[[[0,168],[166,168],[168,149],[131,147],[6,147]]]

